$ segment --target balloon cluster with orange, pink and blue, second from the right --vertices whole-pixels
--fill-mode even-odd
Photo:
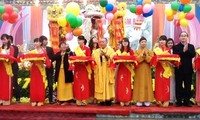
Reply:
[[[132,4],[130,11],[136,15],[143,15],[149,17],[153,15],[155,4],[151,0],[138,0],[137,5]]]

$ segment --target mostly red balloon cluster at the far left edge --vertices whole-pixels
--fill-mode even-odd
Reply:
[[[18,20],[19,10],[12,5],[0,6],[0,20],[13,24]]]

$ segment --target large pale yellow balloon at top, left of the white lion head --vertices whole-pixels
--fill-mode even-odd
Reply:
[[[70,2],[66,6],[66,12],[77,16],[80,13],[80,6],[78,3]]]

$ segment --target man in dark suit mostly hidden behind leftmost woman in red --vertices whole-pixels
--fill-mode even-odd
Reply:
[[[9,40],[11,42],[12,47],[14,48],[14,57],[17,58],[19,54],[19,49],[17,46],[13,45],[13,37],[11,35],[9,36]],[[12,63],[12,71],[13,71],[12,81],[13,81],[13,86],[14,86],[13,93],[16,98],[16,102],[19,103],[20,102],[20,86],[17,82],[18,71],[19,71],[19,66],[17,62]]]

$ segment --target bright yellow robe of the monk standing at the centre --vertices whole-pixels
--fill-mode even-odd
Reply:
[[[106,58],[103,56],[101,62],[101,50],[103,50],[106,53],[106,55],[110,57],[114,55],[114,50],[110,47],[106,47],[104,49],[99,48],[97,50],[94,50],[92,54],[97,64],[94,68],[94,97],[99,101],[105,101],[115,97],[115,71],[109,67],[110,59],[107,61]]]

